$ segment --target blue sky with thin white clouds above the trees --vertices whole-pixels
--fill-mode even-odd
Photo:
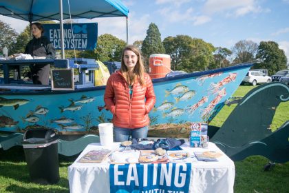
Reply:
[[[237,41],[276,41],[289,59],[289,0],[124,0],[129,8],[129,43],[143,40],[149,23],[162,39],[178,34],[231,49]],[[27,22],[0,16],[21,32]],[[126,40],[125,18],[93,19],[98,33]],[[92,22],[89,21],[89,22]],[[86,21],[85,21],[86,22]]]

